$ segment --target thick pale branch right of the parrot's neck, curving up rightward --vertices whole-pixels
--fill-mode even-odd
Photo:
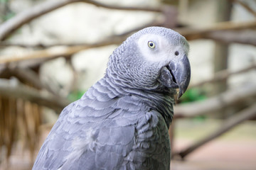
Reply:
[[[243,87],[208,98],[205,101],[196,101],[174,107],[175,118],[193,118],[197,115],[206,115],[214,111],[236,104],[242,104],[256,98],[256,86]]]

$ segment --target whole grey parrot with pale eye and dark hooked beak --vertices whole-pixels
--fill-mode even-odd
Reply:
[[[188,42],[149,27],[110,55],[105,77],[70,103],[43,143],[33,169],[170,169],[168,129],[174,94],[186,91]]]

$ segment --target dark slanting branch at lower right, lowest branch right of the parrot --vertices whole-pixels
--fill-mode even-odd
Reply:
[[[176,153],[176,155],[178,154],[181,158],[186,157],[188,154],[198,149],[198,147],[201,147],[202,145],[205,145],[207,142],[210,142],[210,140],[214,140],[216,137],[223,135],[225,132],[228,132],[228,130],[234,128],[235,126],[239,125],[243,121],[249,120],[255,117],[256,117],[256,104],[250,106],[249,108],[245,108],[243,111],[240,111],[239,113],[236,113],[228,120],[225,120],[223,125],[218,130],[208,135],[207,137],[203,138],[202,140],[196,142],[195,144],[191,145],[190,147],[184,149],[183,151]]]

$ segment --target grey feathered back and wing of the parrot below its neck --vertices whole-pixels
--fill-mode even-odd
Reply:
[[[154,111],[153,94],[138,95],[135,89],[118,89],[108,82],[108,77],[98,81],[63,110],[33,169],[149,169],[151,161],[169,164],[168,133],[161,134],[167,122]]]

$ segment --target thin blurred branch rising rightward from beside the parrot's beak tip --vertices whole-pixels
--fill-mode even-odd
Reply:
[[[217,72],[212,79],[206,79],[204,81],[198,82],[197,84],[191,84],[191,86],[189,86],[188,88],[191,89],[191,88],[194,88],[197,86],[202,86],[203,84],[215,83],[217,81],[223,81],[225,79],[228,79],[228,77],[230,77],[232,75],[248,72],[248,71],[250,71],[250,69],[256,69],[256,63],[252,64],[250,67],[246,67],[244,69],[240,69],[235,72],[230,72],[228,69],[225,69],[223,71]]]

